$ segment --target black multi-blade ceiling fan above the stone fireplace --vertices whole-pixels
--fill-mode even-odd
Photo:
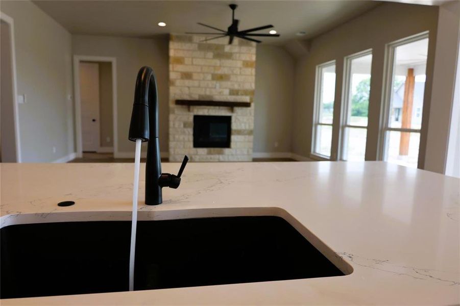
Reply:
[[[218,32],[218,33],[192,33],[192,32],[186,32],[186,34],[219,35],[219,36],[216,36],[216,37],[211,37],[211,38],[208,38],[208,39],[204,39],[204,40],[202,40],[202,41],[208,41],[208,40],[213,40],[213,39],[217,39],[217,38],[221,38],[221,37],[226,37],[226,36],[228,36],[228,44],[232,44],[233,39],[234,39],[235,37],[238,37],[238,38],[241,38],[241,39],[250,40],[250,41],[254,41],[254,42],[261,42],[261,41],[260,41],[260,40],[257,40],[257,39],[254,39],[254,38],[250,38],[250,37],[248,37],[248,36],[272,36],[272,37],[279,37],[279,34],[252,34],[252,33],[251,33],[251,32],[255,32],[255,31],[260,31],[260,30],[264,30],[264,29],[273,28],[273,25],[272,25],[272,24],[263,25],[262,27],[252,28],[252,29],[248,29],[248,30],[244,30],[244,31],[238,31],[238,22],[239,22],[239,20],[238,20],[238,19],[235,19],[235,9],[236,9],[237,5],[236,5],[236,4],[231,4],[231,5],[229,5],[229,7],[232,9],[232,24],[230,25],[230,27],[228,27],[227,31],[224,31],[224,30],[221,30],[221,29],[217,29],[217,28],[211,27],[210,25],[207,25],[207,24],[198,22],[198,24],[203,25],[204,27],[207,27],[207,28],[210,28],[210,29],[219,31],[219,32]]]

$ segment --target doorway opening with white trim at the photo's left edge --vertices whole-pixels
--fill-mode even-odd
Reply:
[[[0,16],[0,162],[20,162],[13,19]]]

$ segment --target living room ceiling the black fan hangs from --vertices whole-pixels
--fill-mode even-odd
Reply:
[[[326,32],[379,5],[378,1],[34,1],[72,34],[152,37],[167,33],[227,30],[230,3],[238,4],[239,30],[273,24],[281,37],[262,38],[283,44]],[[158,27],[159,21],[166,27]],[[209,31],[210,30],[210,31]],[[306,35],[296,36],[299,31]],[[268,33],[268,30],[260,33]]]

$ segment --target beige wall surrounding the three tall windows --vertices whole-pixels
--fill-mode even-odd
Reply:
[[[377,158],[380,124],[385,44],[423,31],[430,31],[419,156],[419,164],[423,167],[437,21],[438,7],[384,3],[330,32],[314,38],[310,42],[309,54],[296,62],[293,151],[302,156],[309,156],[310,154],[316,66],[336,60],[334,123],[339,126],[338,114],[340,113],[342,98],[344,57],[372,48],[372,80],[366,159],[375,160]],[[334,129],[332,135],[333,152],[337,152],[338,137],[338,129]],[[335,158],[333,157],[333,159]]]

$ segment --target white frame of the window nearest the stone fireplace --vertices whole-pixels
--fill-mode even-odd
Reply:
[[[316,72],[315,72],[315,80],[314,80],[314,97],[313,97],[313,129],[312,129],[312,135],[311,135],[311,152],[310,152],[310,157],[317,159],[317,160],[323,160],[323,161],[330,161],[331,156],[332,156],[332,137],[331,137],[331,151],[329,152],[329,156],[320,154],[317,152],[317,132],[318,132],[318,126],[323,125],[323,126],[330,126],[331,129],[333,130],[333,122],[332,123],[322,123],[320,122],[320,112],[321,112],[321,97],[322,97],[322,85],[323,85],[323,79],[321,72],[324,68],[327,68],[329,66],[334,66],[334,72],[335,72],[335,83],[334,83],[334,92],[337,84],[337,73],[336,73],[336,61],[328,61],[322,64],[319,64],[316,66]],[[335,108],[335,94],[334,94],[334,107]],[[332,109],[332,113],[334,112]]]

